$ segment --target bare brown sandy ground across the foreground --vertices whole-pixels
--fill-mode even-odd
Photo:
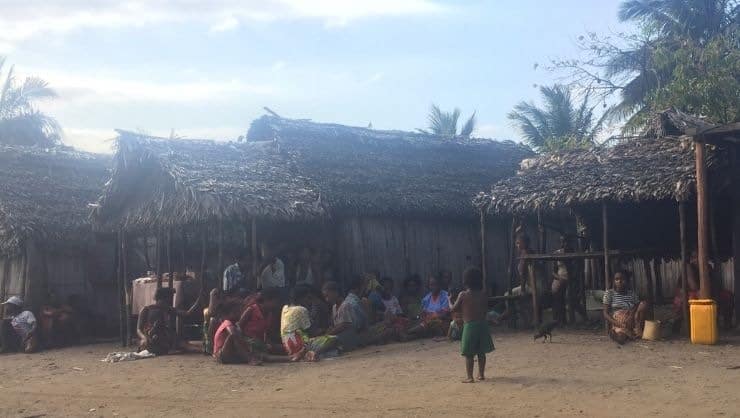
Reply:
[[[431,340],[259,367],[199,354],[101,362],[112,344],[4,355],[0,415],[740,416],[737,337],[621,348],[592,332],[494,338],[489,380],[472,385],[460,383],[458,344]]]

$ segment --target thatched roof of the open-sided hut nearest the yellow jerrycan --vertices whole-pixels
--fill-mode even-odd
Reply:
[[[474,204],[487,205],[491,213],[522,213],[601,202],[688,199],[696,180],[694,144],[682,134],[706,125],[674,110],[659,113],[642,136],[615,146],[522,161],[516,176],[494,184]]]

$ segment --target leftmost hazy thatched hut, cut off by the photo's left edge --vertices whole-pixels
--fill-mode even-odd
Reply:
[[[21,296],[36,309],[53,293],[83,303],[101,328],[115,317],[114,246],[89,220],[108,162],[66,147],[0,145],[1,299]]]

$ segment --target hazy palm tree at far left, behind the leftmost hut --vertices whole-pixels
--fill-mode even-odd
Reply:
[[[0,78],[5,57],[0,57]],[[49,84],[38,77],[16,83],[11,66],[0,90],[0,142],[16,145],[52,146],[61,142],[61,128],[34,107],[38,100],[56,97]]]

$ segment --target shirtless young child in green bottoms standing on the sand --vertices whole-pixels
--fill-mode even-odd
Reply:
[[[468,378],[463,383],[473,383],[475,356],[478,356],[478,380],[485,380],[486,353],[493,351],[494,347],[486,321],[488,297],[483,291],[483,274],[479,269],[469,267],[463,273],[463,283],[465,290],[460,292],[450,309],[453,312],[462,311],[465,324],[460,348],[465,356],[465,369],[468,373]]]

